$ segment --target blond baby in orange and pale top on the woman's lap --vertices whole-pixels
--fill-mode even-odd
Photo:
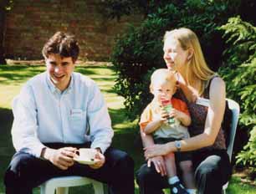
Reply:
[[[175,74],[168,69],[156,69],[151,75],[150,89],[154,99],[143,111],[140,126],[144,133],[153,135],[156,144],[176,141],[178,145],[179,140],[189,137],[187,126],[191,124],[191,118],[187,105],[182,100],[172,97],[176,90],[176,83]],[[172,106],[169,112],[166,110],[166,104]],[[196,193],[191,153],[178,150],[175,155],[170,153],[164,156],[164,161],[172,193]],[[177,176],[176,161],[181,167],[182,180],[187,189],[182,186]]]

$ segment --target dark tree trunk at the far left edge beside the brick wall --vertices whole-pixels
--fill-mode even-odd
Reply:
[[[4,48],[3,48],[6,10],[5,10],[5,3],[3,2],[0,3],[0,64],[6,64],[6,60],[4,57]]]

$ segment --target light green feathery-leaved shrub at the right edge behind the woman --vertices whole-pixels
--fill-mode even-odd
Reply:
[[[256,28],[241,18],[229,18],[223,25],[228,48],[225,66],[220,69],[227,84],[228,97],[241,108],[239,128],[248,130],[250,138],[237,156],[237,163],[256,165]]]

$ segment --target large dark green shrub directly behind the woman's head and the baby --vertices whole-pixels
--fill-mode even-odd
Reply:
[[[115,89],[125,97],[125,108],[131,119],[137,118],[151,100],[148,89],[151,70],[166,67],[161,41],[166,30],[191,28],[200,38],[207,63],[212,69],[218,69],[224,43],[217,27],[227,23],[231,5],[229,1],[199,0],[168,3],[156,7],[139,28],[131,26],[116,39],[111,58],[118,74]]]

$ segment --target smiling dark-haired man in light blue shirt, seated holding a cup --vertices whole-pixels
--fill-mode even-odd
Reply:
[[[79,45],[55,33],[45,43],[46,72],[23,86],[13,103],[13,145],[17,153],[6,171],[6,193],[32,193],[55,176],[87,176],[105,182],[110,193],[134,193],[134,163],[110,147],[114,135],[103,95],[95,82],[74,73]],[[97,162],[74,161],[80,147],[97,151]]]

